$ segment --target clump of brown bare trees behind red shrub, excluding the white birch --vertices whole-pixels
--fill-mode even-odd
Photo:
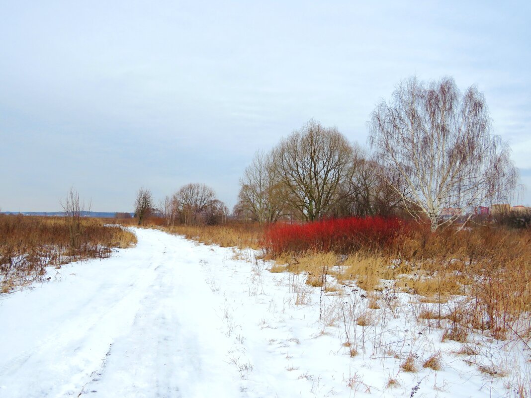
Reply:
[[[234,214],[259,223],[390,216],[401,212],[401,197],[389,181],[404,186],[336,127],[310,120],[269,152],[256,152]]]

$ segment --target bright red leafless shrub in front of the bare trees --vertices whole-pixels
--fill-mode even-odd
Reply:
[[[264,235],[263,245],[272,255],[305,250],[352,253],[381,251],[410,230],[411,224],[398,218],[366,217],[322,220],[305,224],[277,223]]]

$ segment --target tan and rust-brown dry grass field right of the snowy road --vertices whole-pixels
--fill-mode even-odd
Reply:
[[[393,290],[415,295],[423,304],[446,304],[446,316],[440,310],[421,311],[418,316],[449,319],[444,340],[465,342],[474,330],[498,340],[520,339],[531,344],[531,318],[524,316],[531,312],[531,230],[476,227],[430,233],[419,228],[399,239],[394,249],[358,251],[341,258],[334,253],[290,253],[282,261],[287,264],[282,270],[306,271],[308,283],[320,286],[320,269],[327,264],[329,274],[339,283],[355,281],[369,293],[392,283]],[[367,296],[370,308],[381,305]],[[452,309],[449,306],[456,296],[470,300]]]

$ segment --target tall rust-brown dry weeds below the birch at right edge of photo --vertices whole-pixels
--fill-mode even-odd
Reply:
[[[531,230],[446,230],[427,236],[417,257],[421,250],[430,258],[423,262],[424,270],[438,272],[444,267],[446,282],[473,298],[456,322],[490,331],[495,339],[511,335],[529,342],[531,319],[522,315],[531,310]],[[445,289],[459,294],[448,283],[439,291]]]

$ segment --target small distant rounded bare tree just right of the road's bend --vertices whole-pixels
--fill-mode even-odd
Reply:
[[[175,194],[181,221],[185,224],[197,224],[209,207],[215,204],[216,193],[204,184],[186,184]]]

